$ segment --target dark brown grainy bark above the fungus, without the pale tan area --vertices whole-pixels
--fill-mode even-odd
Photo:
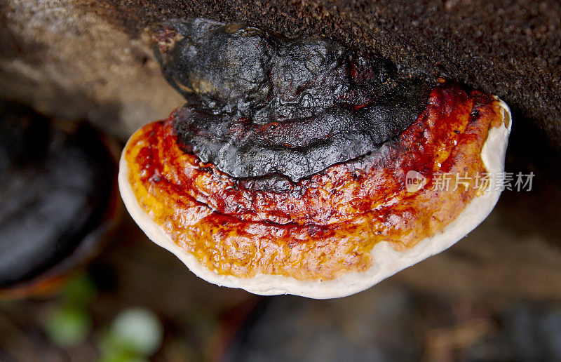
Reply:
[[[203,15],[285,36],[329,36],[407,72],[499,95],[554,145],[561,141],[561,4],[557,1],[109,1],[137,35],[167,18]]]

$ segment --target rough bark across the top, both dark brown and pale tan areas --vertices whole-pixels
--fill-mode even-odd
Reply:
[[[181,102],[163,90],[151,36],[170,19],[203,15],[285,36],[330,36],[413,74],[457,79],[499,95],[517,119],[553,145],[561,141],[561,4],[555,0],[4,1],[1,91],[48,110],[53,107],[41,102],[72,103],[66,115],[111,123],[122,135],[130,129],[119,121],[145,123]]]

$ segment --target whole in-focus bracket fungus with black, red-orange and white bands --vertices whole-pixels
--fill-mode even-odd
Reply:
[[[119,185],[149,238],[201,278],[351,295],[450,247],[498,200],[480,182],[503,172],[511,129],[495,96],[330,39],[174,29],[161,64],[187,102],[132,135]]]

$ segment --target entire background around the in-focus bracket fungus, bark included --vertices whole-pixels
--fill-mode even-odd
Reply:
[[[534,173],[449,250],[339,300],[198,279],[124,210],[128,136],[184,100],[170,19],[247,21],[379,51],[513,109],[506,171]],[[558,361],[557,1],[0,1],[0,361]],[[417,73],[416,73],[417,72]]]

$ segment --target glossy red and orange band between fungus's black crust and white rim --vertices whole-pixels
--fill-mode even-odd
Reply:
[[[395,142],[363,162],[338,163],[290,182],[286,192],[255,191],[177,145],[174,113],[133,135],[124,155],[140,207],[168,236],[218,274],[279,274],[328,280],[368,269],[381,240],[397,250],[442,231],[482,190],[480,157],[499,102],[442,83]],[[427,183],[407,192],[415,170]],[[470,185],[435,189],[441,173]]]

